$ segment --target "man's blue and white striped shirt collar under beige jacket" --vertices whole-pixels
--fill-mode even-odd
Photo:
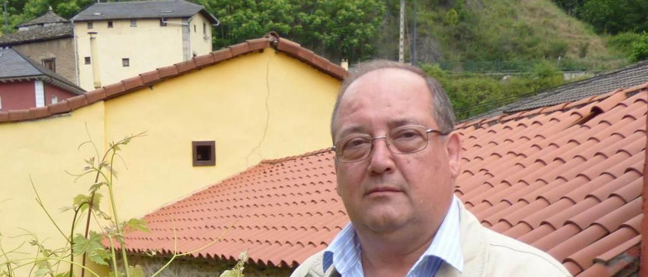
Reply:
[[[335,265],[335,269],[341,276],[363,277],[361,251],[356,229],[349,223],[324,251],[322,263],[324,271],[327,271],[330,265]],[[459,272],[463,271],[463,255],[459,238],[459,199],[454,194],[448,214],[432,239],[430,247],[414,263],[407,277],[434,276],[443,262]]]

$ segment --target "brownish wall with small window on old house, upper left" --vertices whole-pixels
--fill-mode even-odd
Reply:
[[[42,60],[55,58],[56,73],[70,82],[76,83],[75,51],[73,43],[73,38],[69,37],[23,43],[20,45],[12,45],[12,47],[41,65],[43,64]]]

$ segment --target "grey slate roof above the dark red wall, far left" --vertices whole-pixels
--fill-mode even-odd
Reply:
[[[84,89],[12,48],[0,48],[0,82],[38,79],[75,94]]]

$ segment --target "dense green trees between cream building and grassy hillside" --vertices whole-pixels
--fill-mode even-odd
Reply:
[[[271,30],[332,59],[369,58],[385,12],[379,0],[202,0],[220,20],[214,48],[259,38]]]

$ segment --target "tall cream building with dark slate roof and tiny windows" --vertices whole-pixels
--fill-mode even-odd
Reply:
[[[184,0],[95,3],[71,20],[78,85],[86,90],[207,54],[218,24]]]

